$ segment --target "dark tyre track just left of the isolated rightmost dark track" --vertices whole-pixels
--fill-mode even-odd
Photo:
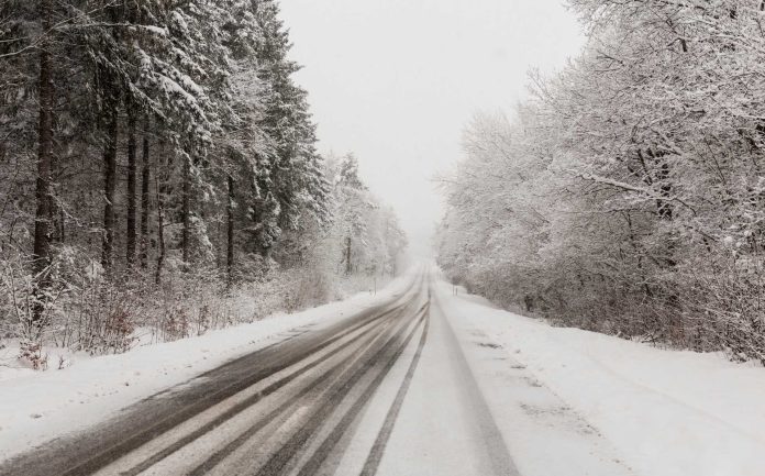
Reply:
[[[390,373],[390,369],[393,367],[396,362],[399,359],[406,347],[409,345],[409,342],[411,339],[414,336],[417,329],[420,328],[420,324],[424,322],[424,326],[422,329],[422,335],[420,337],[420,343],[418,344],[418,353],[415,354],[415,358],[419,359],[419,352],[422,345],[424,345],[425,342],[425,336],[428,333],[428,311],[425,310],[422,312],[420,316],[418,313],[418,321],[414,325],[414,329],[412,329],[412,332],[409,334],[407,337],[406,342],[397,351],[397,353],[393,355],[393,357],[388,361],[386,366],[380,370],[380,373],[377,375],[377,377],[367,386],[365,389],[364,394],[354,402],[354,405],[348,409],[348,411],[343,416],[342,420],[335,425],[335,428],[332,430],[332,432],[326,436],[326,439],[322,442],[321,446],[313,453],[311,458],[300,468],[300,472],[298,473],[299,476],[311,476],[314,474],[318,474],[321,465],[324,463],[326,457],[332,453],[332,451],[335,449],[335,445],[337,442],[342,439],[342,436],[345,434],[347,429],[351,427],[351,424],[354,422],[354,420],[358,417],[358,413],[366,407],[366,405],[369,402],[372,397],[375,395],[377,389],[379,389],[380,385],[385,380],[385,378],[388,376]]]

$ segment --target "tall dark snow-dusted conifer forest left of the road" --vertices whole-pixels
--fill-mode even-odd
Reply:
[[[279,269],[393,270],[389,210],[343,224],[289,49],[271,0],[0,1],[0,309],[23,328],[7,335],[38,340],[93,283],[224,294]]]

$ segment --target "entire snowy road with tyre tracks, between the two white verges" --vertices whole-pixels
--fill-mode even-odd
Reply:
[[[518,475],[422,272],[406,292],[41,445],[0,475]]]

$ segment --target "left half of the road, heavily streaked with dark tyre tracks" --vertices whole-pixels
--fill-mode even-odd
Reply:
[[[417,283],[400,299],[245,355],[13,458],[0,474],[282,474],[307,454],[301,466],[321,465],[347,428],[345,414],[365,407],[422,332],[426,298],[422,277]],[[308,453],[313,443],[321,444]]]

